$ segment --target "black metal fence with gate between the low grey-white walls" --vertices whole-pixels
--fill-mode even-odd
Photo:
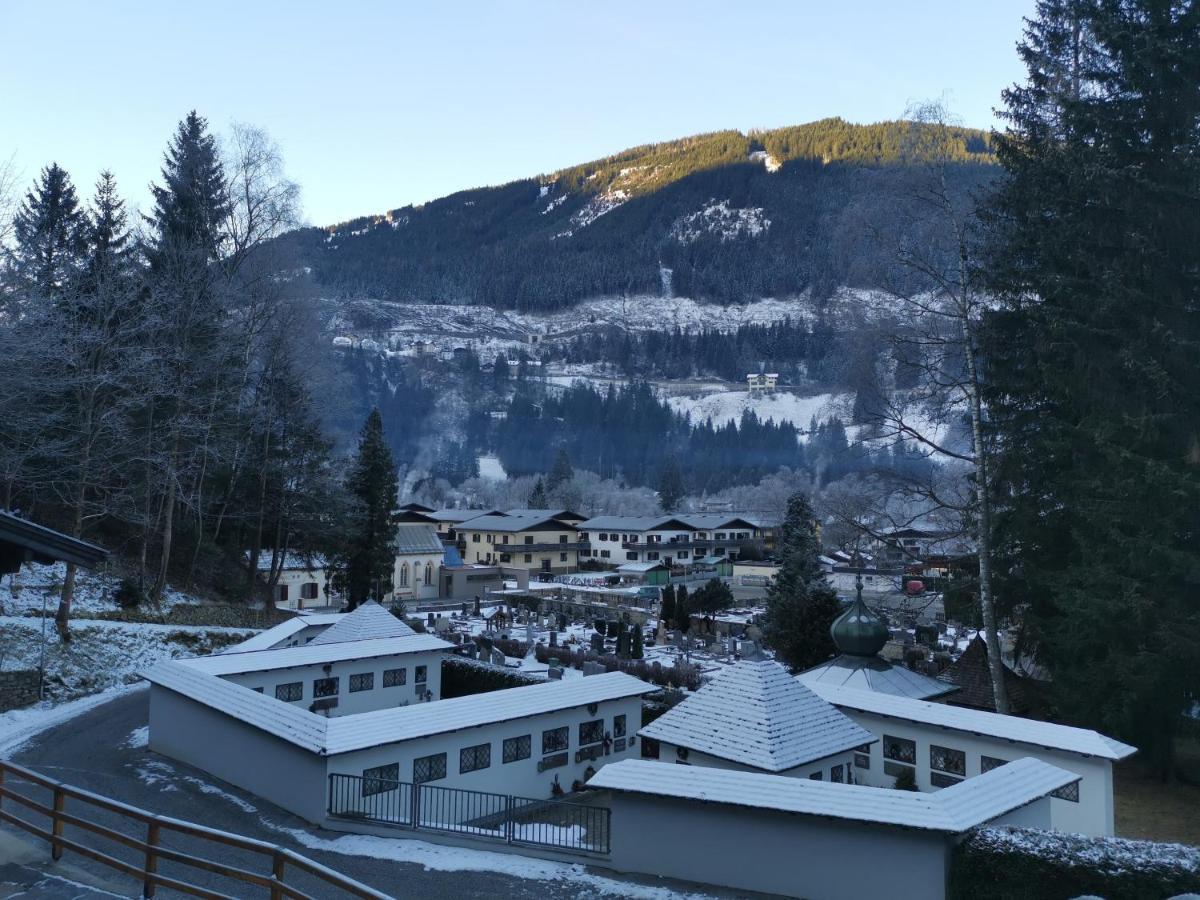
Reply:
[[[610,848],[611,811],[571,800],[334,774],[329,776],[329,815],[506,844],[605,854]]]

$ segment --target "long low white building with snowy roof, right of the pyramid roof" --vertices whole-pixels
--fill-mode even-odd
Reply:
[[[890,787],[901,772],[911,770],[919,790],[938,791],[1033,756],[1079,776],[1052,806],[1055,830],[1114,833],[1112,763],[1136,748],[1056,722],[820,682],[810,686],[876,738],[854,756],[859,784]]]

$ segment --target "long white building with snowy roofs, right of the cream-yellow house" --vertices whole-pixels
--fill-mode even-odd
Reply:
[[[595,516],[578,523],[584,558],[611,565],[661,562],[691,565],[704,557],[737,559],[745,544],[762,547],[756,520],[740,515]]]

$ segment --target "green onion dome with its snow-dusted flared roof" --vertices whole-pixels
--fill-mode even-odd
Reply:
[[[942,697],[956,690],[953,684],[888,662],[878,655],[890,635],[883,619],[863,602],[862,589],[853,606],[830,625],[829,635],[838,655],[797,676],[809,688],[830,684],[917,700]]]

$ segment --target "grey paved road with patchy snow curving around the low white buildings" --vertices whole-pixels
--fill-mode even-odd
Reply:
[[[529,900],[558,900],[559,898],[600,898],[631,896],[647,900],[668,900],[674,895],[697,896],[691,886],[662,880],[628,880],[600,869],[584,870],[582,866],[559,866],[540,860],[530,860],[530,865],[552,870],[542,877],[517,877],[498,871],[438,871],[425,869],[415,863],[401,863],[379,859],[370,856],[352,856],[332,852],[328,848],[305,846],[305,841],[290,834],[287,829],[296,829],[300,838],[310,840],[332,841],[340,835],[313,828],[300,818],[286,812],[264,800],[248,794],[232,785],[218,781],[208,773],[166,757],[152,754],[145,748],[130,748],[130,736],[148,720],[148,691],[136,691],[119,697],[109,703],[89,710],[68,722],[42,733],[35,743],[23,748],[14,755],[13,762],[36,769],[50,778],[67,784],[95,791],[125,803],[140,806],[167,816],[220,828],[242,834],[258,840],[282,844],[336,869],[350,877],[379,888],[397,898],[454,898],[468,900],[480,898],[497,900],[514,898]],[[252,761],[247,761],[251,764]],[[96,818],[101,818],[97,815]],[[352,838],[349,840],[359,840]],[[388,840],[386,845],[395,848],[415,848],[420,852],[431,845],[424,841]],[[186,840],[175,841],[174,846],[186,852]],[[379,845],[376,845],[377,847]],[[206,850],[212,852],[212,845]],[[222,848],[223,851],[223,848]],[[221,851],[218,851],[221,852]],[[436,846],[431,852],[450,857],[451,868],[458,853],[452,847]],[[703,852],[697,848],[697,852]],[[70,856],[70,854],[68,854]],[[478,851],[467,851],[481,862]],[[497,866],[511,871],[511,865],[518,862],[511,854],[488,854]],[[238,851],[224,851],[223,859],[250,868],[252,862]],[[78,865],[104,872],[113,877],[112,870],[101,869],[90,860],[79,860]],[[264,871],[262,862],[253,868]],[[164,875],[170,875],[169,868],[163,868]],[[185,871],[185,870],[176,870]],[[203,872],[186,870],[197,880],[205,877]],[[554,875],[562,877],[553,877]],[[223,880],[206,882],[212,889],[229,890],[229,883]],[[132,886],[132,882],[130,882]],[[300,883],[304,889],[308,886]],[[131,894],[137,892],[131,887]],[[317,895],[322,894],[317,892]],[[173,892],[160,890],[160,898],[170,898]],[[703,896],[730,898],[725,892],[710,892]]]

